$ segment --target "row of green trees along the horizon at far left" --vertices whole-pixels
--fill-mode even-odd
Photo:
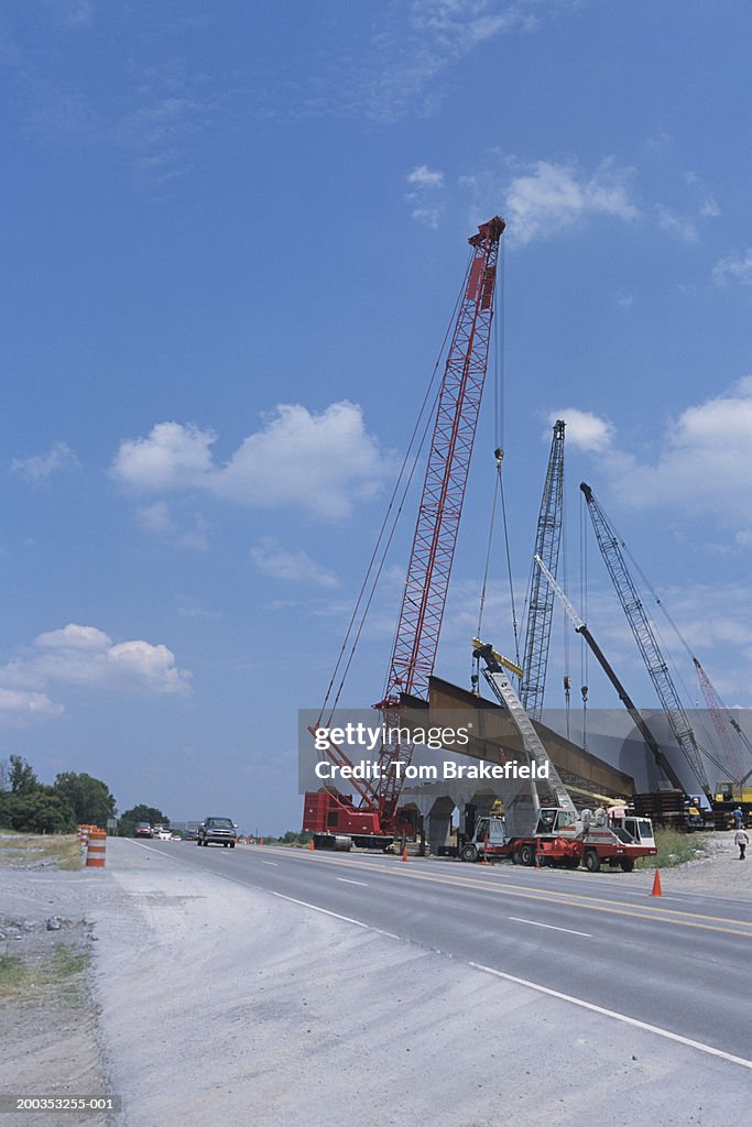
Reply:
[[[116,816],[115,796],[101,779],[62,771],[51,786],[39,782],[23,755],[0,762],[0,827],[24,834],[69,834],[87,823],[107,827]],[[152,806],[134,806],[118,818],[118,833],[130,836],[139,822],[163,826],[169,818]]]

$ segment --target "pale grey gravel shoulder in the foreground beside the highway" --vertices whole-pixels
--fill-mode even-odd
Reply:
[[[100,872],[20,876],[16,911],[88,921],[92,993],[82,1041],[52,1014],[15,1059],[36,1089],[62,1042],[70,1091],[123,1098],[116,1127],[720,1127],[747,1107],[738,1066],[130,841]]]

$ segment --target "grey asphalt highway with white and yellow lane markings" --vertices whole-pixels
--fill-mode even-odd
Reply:
[[[622,875],[335,854],[273,846],[131,843],[566,995],[752,1068],[752,900],[653,898]]]

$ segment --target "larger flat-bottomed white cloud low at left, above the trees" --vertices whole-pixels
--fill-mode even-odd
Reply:
[[[183,694],[189,691],[191,674],[176,667],[167,646],[114,642],[96,627],[69,623],[39,635],[28,653],[0,667],[0,684],[6,686],[38,690],[51,682]]]

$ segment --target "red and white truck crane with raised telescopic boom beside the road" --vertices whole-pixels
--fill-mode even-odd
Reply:
[[[622,808],[619,811],[620,822],[614,819],[611,823],[603,808],[577,811],[506,675],[505,671],[514,673],[517,667],[478,638],[472,642],[472,656],[476,662],[484,663],[484,676],[499,703],[507,709],[530,760],[534,760],[539,769],[545,769],[539,770],[539,775],[546,779],[557,805],[541,806],[538,784],[531,778],[531,801],[515,801],[505,817],[479,818],[472,837],[458,842],[461,860],[511,858],[516,864],[550,864],[569,869],[576,869],[582,863],[589,872],[598,872],[605,861],[612,868],[619,866],[625,872],[630,872],[637,858],[654,855],[655,841],[648,818],[632,819],[628,828]]]

